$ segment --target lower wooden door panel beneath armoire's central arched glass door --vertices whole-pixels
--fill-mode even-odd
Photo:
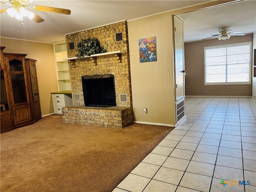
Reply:
[[[14,107],[14,122],[15,125],[26,123],[32,121],[32,116],[30,112],[30,105],[23,105],[20,107]]]

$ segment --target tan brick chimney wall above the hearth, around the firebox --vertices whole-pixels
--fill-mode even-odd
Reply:
[[[123,41],[116,42],[116,33],[123,33]],[[106,49],[106,52],[125,51],[122,54],[122,62],[117,55],[110,54],[100,56],[96,59],[96,63],[92,58],[83,58],[72,60],[69,62],[71,89],[74,104],[84,105],[84,96],[82,90],[82,79],[84,75],[93,76],[94,74],[104,75],[113,74],[116,89],[116,105],[132,106],[132,91],[130,78],[130,62],[128,50],[128,30],[127,22],[122,21],[106,26],[84,30],[66,35],[66,43],[74,42],[75,49],[67,49],[68,58],[76,57],[78,50],[77,44],[86,38],[98,38],[100,45]],[[81,101],[74,100],[74,94],[80,94]],[[120,102],[120,94],[127,94],[127,102]]]

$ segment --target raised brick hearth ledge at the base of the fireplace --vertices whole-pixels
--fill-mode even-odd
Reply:
[[[124,128],[133,122],[132,107],[86,107],[72,105],[62,108],[64,123]]]

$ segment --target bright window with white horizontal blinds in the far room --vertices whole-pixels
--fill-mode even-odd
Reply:
[[[251,42],[204,48],[204,84],[250,84]]]

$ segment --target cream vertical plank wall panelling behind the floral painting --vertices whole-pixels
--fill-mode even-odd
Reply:
[[[134,120],[174,122],[172,26],[168,13],[128,21]],[[156,36],[157,61],[140,63],[138,40]],[[143,108],[148,108],[145,115]]]

